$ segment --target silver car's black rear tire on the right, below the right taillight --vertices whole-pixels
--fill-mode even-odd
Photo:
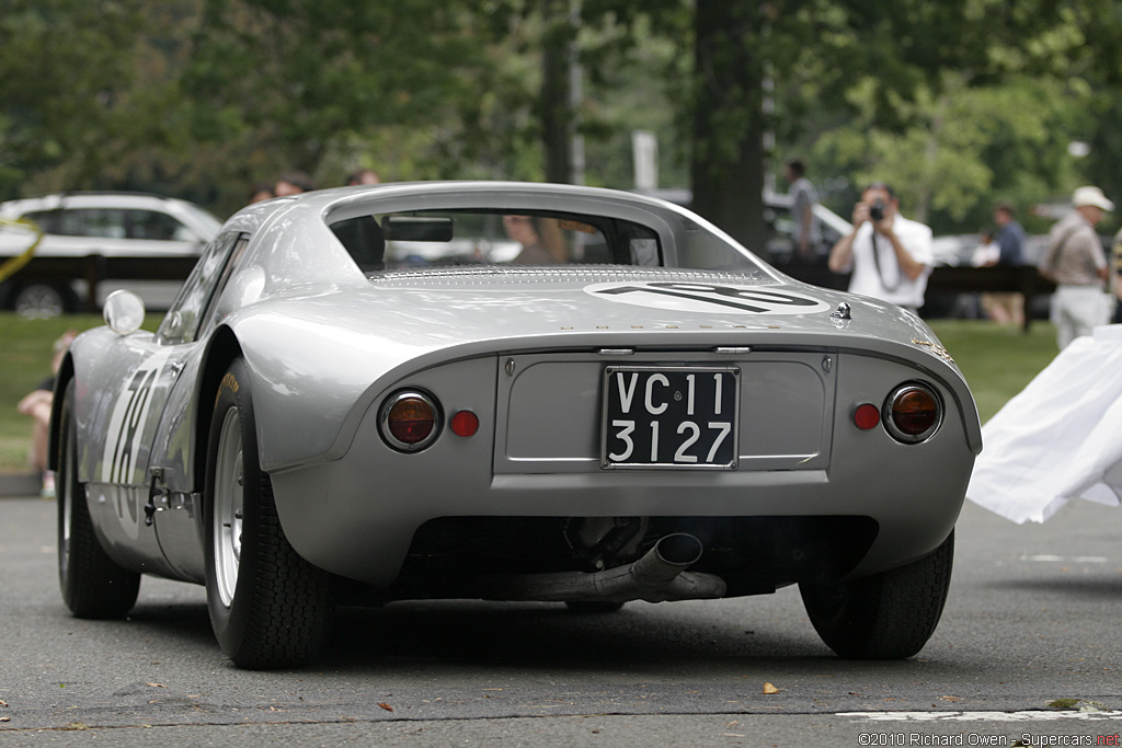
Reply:
[[[903,659],[923,648],[942,616],[955,555],[951,530],[929,555],[845,584],[799,585],[818,635],[839,657]]]

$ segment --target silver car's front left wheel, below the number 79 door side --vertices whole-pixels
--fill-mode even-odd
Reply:
[[[85,486],[77,479],[74,381],[66,386],[58,440],[58,585],[79,618],[123,618],[136,604],[140,574],[117,564],[93,530]]]

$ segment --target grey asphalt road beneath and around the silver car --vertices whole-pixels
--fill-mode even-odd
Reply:
[[[201,588],[146,579],[129,620],[72,618],[54,521],[0,499],[2,748],[1122,745],[1118,508],[1019,527],[968,505],[942,622],[907,662],[835,658],[785,589],[608,616],[395,603],[274,673],[222,656]]]

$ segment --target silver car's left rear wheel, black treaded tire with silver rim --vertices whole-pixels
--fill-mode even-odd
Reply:
[[[260,470],[252,398],[238,359],[219,388],[206,455],[206,606],[214,636],[239,667],[298,667],[328,628],[330,578],[280,527]]]

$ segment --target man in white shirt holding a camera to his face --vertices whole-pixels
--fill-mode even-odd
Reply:
[[[874,183],[853,207],[853,231],[830,250],[834,273],[853,273],[849,290],[898,304],[911,312],[923,306],[935,256],[931,229],[900,214],[900,201],[886,184]]]

